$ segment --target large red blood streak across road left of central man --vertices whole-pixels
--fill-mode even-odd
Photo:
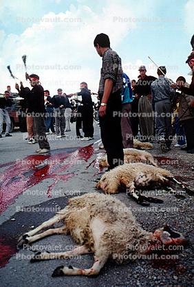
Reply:
[[[7,163],[8,168],[0,176],[0,214],[19,194],[45,179],[54,180],[52,185],[47,187],[47,196],[52,197],[52,188],[59,180],[67,181],[75,175],[66,170],[72,165],[79,164],[80,160],[87,161],[93,153],[94,148],[89,145],[78,148],[75,152],[68,153],[68,149],[58,149],[54,150],[53,154],[34,154],[25,159]],[[39,169],[41,164],[43,168]],[[5,166],[6,164],[0,165],[0,168]]]

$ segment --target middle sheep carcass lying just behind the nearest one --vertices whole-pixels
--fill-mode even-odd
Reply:
[[[132,196],[138,203],[146,204],[144,201],[153,201],[155,203],[162,203],[162,200],[158,198],[151,198],[142,196],[136,192],[136,188],[141,187],[169,187],[170,182],[173,181],[179,184],[186,192],[190,192],[182,183],[176,181],[173,174],[169,170],[164,168],[158,168],[153,165],[147,165],[144,163],[125,163],[118,167],[105,172],[100,181],[96,184],[96,187],[100,188],[106,194],[116,194],[121,187],[127,189],[127,195]],[[184,198],[184,196],[183,196]]]

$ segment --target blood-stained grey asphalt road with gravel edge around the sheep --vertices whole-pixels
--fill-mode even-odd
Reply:
[[[16,249],[21,234],[54,216],[65,207],[69,197],[96,192],[99,128],[95,124],[94,140],[85,142],[75,139],[74,130],[72,124],[72,132],[66,133],[64,139],[49,136],[50,157],[37,156],[34,153],[37,145],[28,145],[25,135],[19,131],[12,133],[12,138],[0,139],[0,286],[194,286],[193,197],[188,195],[180,200],[171,194],[162,194],[160,198],[164,203],[152,203],[151,207],[143,208],[126,198],[125,193],[116,195],[132,209],[145,229],[153,231],[168,223],[188,236],[190,245],[178,253],[176,259],[136,260],[122,266],[108,262],[98,277],[52,278],[52,272],[60,265],[89,268],[92,255],[30,263],[35,251],[57,252],[74,248],[72,238],[59,235],[34,242],[31,249]],[[158,157],[164,168],[193,185],[193,155],[174,148],[163,157],[157,144],[151,153]]]

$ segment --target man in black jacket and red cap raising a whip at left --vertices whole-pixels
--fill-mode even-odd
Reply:
[[[39,76],[34,73],[28,76],[26,73],[26,79],[30,80],[32,90],[28,93],[28,112],[32,114],[34,123],[34,133],[36,140],[39,143],[39,149],[36,150],[39,154],[50,152],[50,144],[46,137],[46,125],[45,125],[45,100],[44,89],[39,84]]]

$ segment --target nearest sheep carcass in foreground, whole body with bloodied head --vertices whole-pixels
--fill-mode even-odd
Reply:
[[[37,234],[59,221],[63,221],[62,227]],[[120,200],[105,194],[90,193],[69,199],[67,207],[56,216],[21,236],[19,246],[52,234],[66,235],[67,233],[70,233],[80,246],[67,252],[39,252],[34,255],[31,262],[94,253],[94,264],[88,269],[58,266],[52,277],[97,275],[108,259],[122,264],[157,251],[159,245],[165,245],[169,250],[167,246],[185,242],[180,233],[171,231],[169,227],[158,229],[154,233],[144,231],[136,222],[130,209]]]

